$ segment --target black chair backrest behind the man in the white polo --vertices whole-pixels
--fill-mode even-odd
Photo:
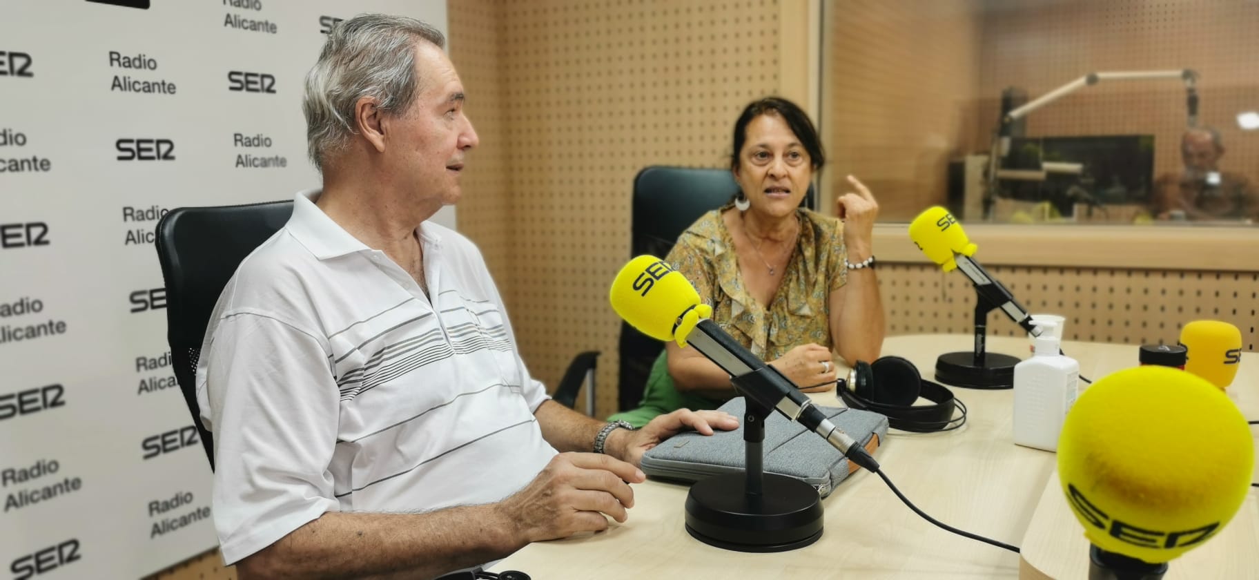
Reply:
[[[292,201],[179,208],[157,223],[157,259],[166,281],[166,340],[175,380],[214,468],[214,440],[196,405],[196,361],[223,287],[240,260],[283,228]]]

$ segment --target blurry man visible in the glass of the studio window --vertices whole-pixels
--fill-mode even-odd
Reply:
[[[1259,220],[1259,194],[1244,176],[1221,172],[1224,143],[1219,131],[1191,128],[1181,137],[1185,170],[1155,182],[1158,219]]]

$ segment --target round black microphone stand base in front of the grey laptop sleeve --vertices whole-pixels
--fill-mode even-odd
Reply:
[[[763,493],[747,493],[743,472],[703,479],[686,494],[686,532],[737,552],[784,552],[822,537],[822,501],[808,483],[765,473]]]

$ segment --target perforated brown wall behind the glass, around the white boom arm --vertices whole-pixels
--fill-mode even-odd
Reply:
[[[1005,87],[1036,98],[1090,72],[1192,68],[1200,125],[1220,130],[1221,169],[1259,180],[1259,135],[1236,114],[1259,107],[1259,3],[1244,0],[988,0],[976,135],[992,133]],[[1155,176],[1181,167],[1180,81],[1102,82],[1027,117],[1029,136],[1153,135]]]

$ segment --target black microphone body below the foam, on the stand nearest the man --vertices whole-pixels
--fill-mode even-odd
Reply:
[[[716,322],[701,320],[686,336],[686,343],[735,377],[735,389],[748,399],[765,409],[777,409],[788,419],[807,427],[857,466],[871,472],[879,471],[879,462],[847,433],[835,427],[791,379],[753,355]]]

